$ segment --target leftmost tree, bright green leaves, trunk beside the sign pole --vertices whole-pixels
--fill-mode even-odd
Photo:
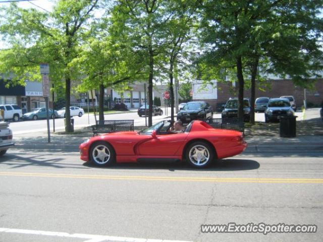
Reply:
[[[51,13],[21,9],[16,4],[1,9],[6,18],[0,32],[13,47],[0,56],[0,72],[13,74],[14,82],[23,83],[31,77],[40,80],[39,64],[48,63],[51,81],[65,81],[66,132],[72,132],[71,80],[80,77],[78,70],[71,68],[71,63],[90,35],[86,25],[97,7],[98,0],[65,0],[59,1]]]

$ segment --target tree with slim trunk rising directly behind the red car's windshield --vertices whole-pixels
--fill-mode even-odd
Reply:
[[[148,79],[148,126],[152,125],[152,86],[158,55],[166,41],[165,26],[171,17],[164,3],[157,0],[119,0],[113,10],[113,22],[121,33],[130,37],[134,53],[140,53],[146,62]]]

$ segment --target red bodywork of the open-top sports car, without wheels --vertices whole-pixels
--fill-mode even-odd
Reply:
[[[170,132],[161,134],[161,131],[151,132],[151,134],[118,132],[92,137],[80,145],[81,159],[90,161],[93,146],[104,143],[113,148],[117,163],[164,159],[184,160],[187,147],[195,143],[207,144],[206,146],[210,147],[209,151],[214,153],[214,159],[240,154],[247,147],[242,133],[213,129],[205,122],[195,120],[184,133],[179,134]]]

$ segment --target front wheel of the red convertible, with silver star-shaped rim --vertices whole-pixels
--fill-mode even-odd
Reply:
[[[98,157],[100,156],[99,152],[102,152],[102,157]],[[111,166],[116,163],[115,150],[110,144],[104,141],[95,142],[91,146],[89,156],[93,164],[97,166]]]

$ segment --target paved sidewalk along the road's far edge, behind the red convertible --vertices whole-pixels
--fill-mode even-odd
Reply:
[[[136,130],[136,127],[135,127]],[[93,136],[90,127],[77,129],[74,134],[67,135],[57,132],[50,135],[48,143],[47,132],[28,133],[14,136],[15,147],[36,150],[64,150],[78,152],[79,145]],[[245,152],[323,152],[323,136],[297,135],[294,138],[281,138],[277,135],[246,136],[248,148]]]

